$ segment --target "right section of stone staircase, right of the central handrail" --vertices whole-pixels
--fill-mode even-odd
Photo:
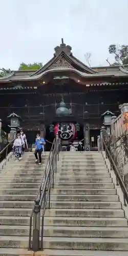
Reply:
[[[127,219],[101,153],[63,152],[61,161],[46,210],[43,253],[128,255]]]

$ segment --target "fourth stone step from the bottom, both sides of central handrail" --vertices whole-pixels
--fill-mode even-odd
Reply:
[[[0,216],[0,225],[27,225],[29,226],[30,217],[24,216]],[[87,217],[45,217],[45,226],[117,226],[117,227],[127,227],[127,220],[125,218],[87,218]],[[99,229],[100,230],[100,229]]]

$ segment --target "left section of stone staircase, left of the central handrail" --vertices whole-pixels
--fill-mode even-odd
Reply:
[[[22,161],[13,158],[0,170],[1,256],[33,255],[28,251],[30,214],[48,156],[38,166],[33,153],[25,153]]]

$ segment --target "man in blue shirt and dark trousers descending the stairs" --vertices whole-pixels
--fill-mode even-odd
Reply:
[[[39,165],[41,164],[41,153],[42,153],[42,148],[46,144],[45,139],[40,137],[40,134],[36,135],[36,140],[35,140],[35,162],[38,162],[39,160]],[[38,157],[37,157],[38,153]]]

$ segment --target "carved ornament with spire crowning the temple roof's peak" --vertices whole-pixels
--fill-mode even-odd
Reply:
[[[66,44],[63,43],[63,38],[61,38],[61,44],[60,46],[56,46],[54,48],[55,50],[55,53],[54,53],[54,56],[58,56],[61,52],[65,52],[67,55],[72,55],[72,47],[71,46],[66,46]]]

